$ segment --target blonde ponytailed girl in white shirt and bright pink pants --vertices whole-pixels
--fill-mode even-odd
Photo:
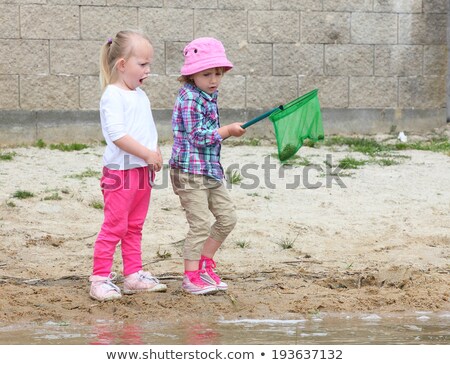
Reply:
[[[121,31],[102,46],[100,120],[106,150],[101,188],[104,221],[94,246],[90,296],[105,301],[121,297],[111,272],[121,242],[124,293],[165,291],[166,285],[142,270],[142,228],[150,203],[151,182],[162,167],[158,134],[145,92],[153,47],[135,31]]]

